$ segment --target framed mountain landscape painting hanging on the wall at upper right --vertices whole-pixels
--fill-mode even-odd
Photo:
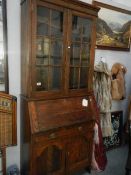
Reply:
[[[131,11],[93,1],[100,7],[96,26],[96,46],[99,49],[130,50]]]

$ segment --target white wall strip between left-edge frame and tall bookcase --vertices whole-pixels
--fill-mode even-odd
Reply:
[[[17,142],[7,148],[7,167],[20,166],[20,0],[7,0],[9,93],[17,97]]]

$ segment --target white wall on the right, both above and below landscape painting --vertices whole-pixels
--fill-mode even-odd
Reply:
[[[131,2],[129,0],[97,0],[103,3],[107,3],[116,7],[124,8],[126,10],[131,9]],[[112,65],[116,62],[122,63],[127,68],[127,73],[125,74],[126,81],[126,99],[121,101],[112,101],[112,111],[123,110],[123,123],[127,119],[128,112],[128,102],[129,95],[131,94],[131,52],[122,51],[110,51],[110,50],[98,50],[96,49],[95,63],[99,62],[101,57],[103,57],[111,69]]]

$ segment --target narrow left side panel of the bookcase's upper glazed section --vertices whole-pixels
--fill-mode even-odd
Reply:
[[[30,80],[30,46],[31,46],[31,20],[30,3],[24,1],[21,5],[21,93],[29,93],[31,86],[28,86]],[[31,85],[31,84],[30,84]]]

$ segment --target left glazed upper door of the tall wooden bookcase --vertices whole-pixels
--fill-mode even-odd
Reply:
[[[34,19],[33,92],[38,96],[57,96],[64,88],[66,13],[62,7],[39,2],[34,10]]]

